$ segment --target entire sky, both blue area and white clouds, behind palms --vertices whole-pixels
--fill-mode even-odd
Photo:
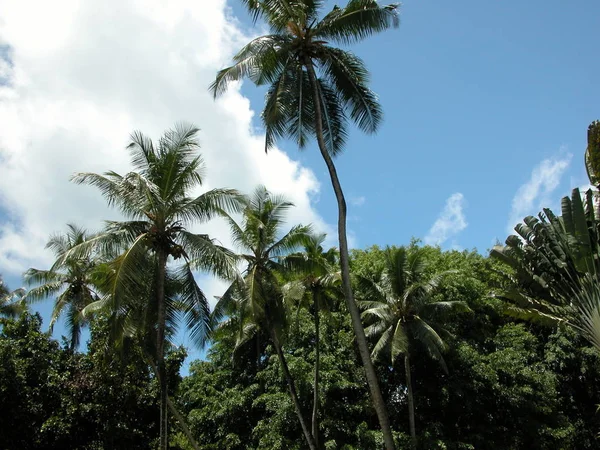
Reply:
[[[415,237],[486,253],[523,217],[558,210],[562,196],[587,186],[586,130],[600,119],[599,17],[597,0],[407,0],[398,29],[353,46],[385,119],[376,135],[352,130],[336,161],[351,245]],[[207,91],[265,31],[235,0],[0,0],[7,283],[19,287],[28,267],[52,263],[45,242],[66,223],[97,230],[119,217],[71,174],[127,172],[129,133],[158,138],[177,121],[201,128],[204,189],[265,184],[296,204],[290,225],[313,223],[334,245],[335,199],[315,145],[299,152],[282,142],[265,155],[264,89],[245,82],[216,102]],[[230,242],[223,223],[196,231]],[[199,281],[210,298],[224,287]],[[36,308],[47,323],[51,301]]]

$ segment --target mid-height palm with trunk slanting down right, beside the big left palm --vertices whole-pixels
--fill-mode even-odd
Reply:
[[[286,255],[307,240],[310,232],[309,227],[296,225],[281,236],[285,213],[292,206],[285,198],[271,195],[264,186],[259,186],[246,199],[241,225],[227,217],[233,241],[243,252],[239,256],[247,266],[243,282],[232,284],[218,301],[213,314],[216,320],[220,320],[232,311],[237,312],[240,325],[238,345],[259,329],[268,333],[306,442],[311,449],[316,449],[282,348],[288,324],[280,283],[281,273],[286,271],[284,260]]]

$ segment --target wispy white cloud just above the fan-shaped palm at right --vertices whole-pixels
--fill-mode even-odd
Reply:
[[[517,190],[512,201],[512,209],[506,225],[507,232],[514,233],[514,227],[524,217],[537,214],[541,208],[556,203],[551,198],[559,186],[561,178],[571,164],[573,155],[561,152],[560,155],[544,159],[531,171],[529,180]]]

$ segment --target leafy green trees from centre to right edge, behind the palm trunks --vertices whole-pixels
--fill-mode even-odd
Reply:
[[[445,318],[448,374],[419,343],[412,359],[419,443],[424,449],[591,449],[600,420],[600,358],[568,328],[515,322],[489,297],[498,263],[477,253],[425,247],[431,274],[458,270],[441,283],[438,300],[464,301],[471,312]],[[353,271],[385,264],[384,250],[355,251]],[[311,407],[313,318],[299,313],[285,352],[304,407]],[[352,329],[337,305],[321,319],[321,432],[325,448],[380,448]],[[201,448],[304,448],[302,432],[267,339],[232,358],[235,339],[223,337],[207,361],[192,365],[178,400]],[[402,361],[378,365],[392,427],[408,445]]]

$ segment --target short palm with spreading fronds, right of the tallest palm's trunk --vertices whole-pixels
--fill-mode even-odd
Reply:
[[[389,356],[392,366],[404,355],[410,435],[416,442],[415,407],[410,369],[414,341],[419,341],[429,355],[448,372],[442,353],[446,343],[428,317],[448,310],[468,310],[464,302],[436,301],[433,294],[449,272],[426,276],[422,249],[387,248],[385,266],[374,277],[358,276],[358,286],[364,294],[359,305],[369,324],[367,336],[375,339],[373,358]]]

